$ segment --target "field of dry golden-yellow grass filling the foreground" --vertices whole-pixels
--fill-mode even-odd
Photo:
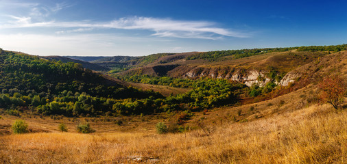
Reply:
[[[0,137],[0,163],[347,163],[347,111],[312,105],[187,133]]]

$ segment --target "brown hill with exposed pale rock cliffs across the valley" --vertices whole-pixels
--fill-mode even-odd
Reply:
[[[346,44],[337,46],[302,46],[276,49],[239,51],[211,51],[208,53],[178,53],[157,57],[145,66],[136,66],[119,72],[121,77],[148,74],[154,77],[196,79],[201,77],[239,81],[249,87],[275,80],[288,85],[292,79],[285,75],[300,66],[309,64],[332,52],[346,50]],[[259,81],[263,79],[263,81]],[[288,76],[287,76],[288,77]]]

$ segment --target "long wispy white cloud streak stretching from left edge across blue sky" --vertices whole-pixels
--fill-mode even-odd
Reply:
[[[208,21],[189,21],[189,20],[172,20],[169,18],[152,18],[152,17],[128,17],[119,18],[109,22],[95,23],[91,21],[43,21],[33,23],[28,17],[11,16],[16,19],[0,28],[23,28],[23,27],[60,27],[60,28],[107,28],[107,29],[144,29],[154,31],[152,36],[171,37],[171,38],[200,38],[216,40],[223,36],[248,38],[249,34],[239,31],[232,31],[215,27],[215,23]],[[21,20],[21,21],[19,21]],[[25,21],[24,21],[25,20]],[[72,31],[70,31],[72,32]]]

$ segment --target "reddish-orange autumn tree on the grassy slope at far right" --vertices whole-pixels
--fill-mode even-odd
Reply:
[[[322,90],[321,102],[328,102],[335,109],[344,102],[344,97],[347,96],[347,85],[344,79],[339,76],[324,78],[319,87]]]

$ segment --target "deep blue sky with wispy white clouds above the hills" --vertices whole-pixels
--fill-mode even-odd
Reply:
[[[0,48],[142,56],[347,43],[346,0],[0,0]]]

